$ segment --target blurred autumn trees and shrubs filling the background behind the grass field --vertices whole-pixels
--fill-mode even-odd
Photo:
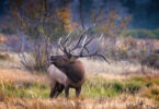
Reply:
[[[46,70],[56,40],[70,31],[76,40],[86,28],[89,37],[104,35],[101,49],[110,59],[159,65],[154,61],[159,52],[158,0],[1,0],[0,5],[0,47],[18,52],[26,69]]]

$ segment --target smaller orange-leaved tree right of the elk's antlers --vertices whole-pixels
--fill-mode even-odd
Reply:
[[[92,19],[96,24],[96,32],[104,33],[105,38],[107,38],[109,43],[105,41],[104,46],[111,53],[110,56],[113,57],[117,51],[116,38],[129,24],[130,15],[121,16],[117,9],[106,11],[106,15],[102,9],[99,11],[98,16],[94,15]]]

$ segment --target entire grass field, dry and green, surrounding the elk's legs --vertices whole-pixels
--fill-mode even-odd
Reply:
[[[0,61],[0,109],[158,109],[159,75],[157,70],[143,74],[140,64],[82,59],[87,81],[79,98],[70,89],[49,99],[46,74],[24,70],[16,55]]]

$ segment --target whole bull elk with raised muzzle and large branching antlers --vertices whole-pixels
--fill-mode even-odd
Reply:
[[[105,61],[105,57],[102,52],[99,52],[99,47],[95,51],[90,52],[88,45],[94,37],[88,38],[84,35],[84,31],[80,35],[79,40],[75,46],[68,46],[70,34],[65,38],[59,38],[58,46],[64,52],[61,56],[50,56],[52,64],[48,68],[48,77],[50,80],[50,94],[49,97],[57,97],[64,89],[66,98],[69,96],[69,88],[76,89],[76,96],[78,97],[81,92],[81,86],[86,80],[86,71],[82,62],[79,58],[99,56]],[[102,35],[100,40],[102,39]],[[75,50],[79,48],[80,52],[75,55]],[[83,52],[87,52],[83,55]],[[107,61],[106,61],[107,62]]]

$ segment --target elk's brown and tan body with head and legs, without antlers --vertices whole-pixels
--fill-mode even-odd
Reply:
[[[66,97],[68,97],[71,87],[76,89],[78,97],[86,78],[82,63],[79,60],[66,61],[65,56],[52,56],[50,59],[52,64],[48,68],[49,96],[57,97],[65,88]]]

